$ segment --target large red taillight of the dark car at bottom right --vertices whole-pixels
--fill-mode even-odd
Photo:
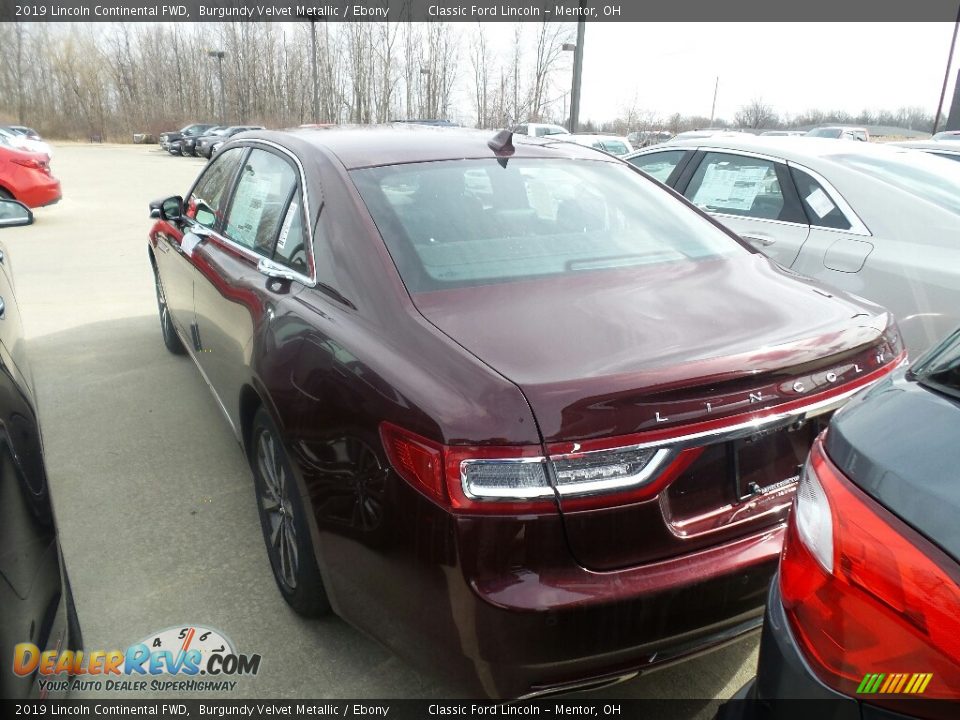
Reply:
[[[825,684],[857,695],[867,673],[932,673],[923,697],[960,699],[955,563],[850,483],[822,438],[797,489],[780,590],[794,636]],[[859,697],[915,697],[906,693],[908,680],[893,682]]]

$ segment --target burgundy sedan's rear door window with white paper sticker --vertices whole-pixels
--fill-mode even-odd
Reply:
[[[297,173],[290,163],[266,150],[251,150],[240,170],[227,213],[226,236],[260,255],[272,257],[281,221],[285,220],[296,187]]]

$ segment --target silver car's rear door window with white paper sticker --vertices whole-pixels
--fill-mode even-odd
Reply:
[[[800,208],[784,195],[777,163],[771,160],[708,152],[684,195],[709,212],[806,223]]]

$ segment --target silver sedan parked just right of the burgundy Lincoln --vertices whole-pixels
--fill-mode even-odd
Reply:
[[[781,265],[886,306],[914,357],[960,325],[960,163],[777,137],[711,137],[625,159]]]

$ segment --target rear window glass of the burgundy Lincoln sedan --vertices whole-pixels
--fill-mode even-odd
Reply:
[[[748,252],[606,161],[450,160],[351,176],[414,293]]]

